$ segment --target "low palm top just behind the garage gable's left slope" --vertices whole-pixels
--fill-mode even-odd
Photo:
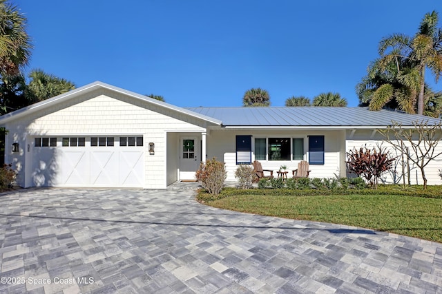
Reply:
[[[75,84],[64,79],[47,74],[43,70],[32,70],[31,78],[26,89],[31,101],[42,101],[75,89]]]

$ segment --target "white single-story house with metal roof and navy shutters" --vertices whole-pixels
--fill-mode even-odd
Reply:
[[[440,121],[364,107],[176,107],[95,82],[3,115],[0,126],[22,187],[164,189],[213,157],[227,180],[253,160],[275,171],[307,160],[312,178],[345,177],[346,152],[381,143],[376,130],[392,120]],[[430,185],[441,184],[440,168],[427,166]],[[412,180],[422,184],[417,172]]]

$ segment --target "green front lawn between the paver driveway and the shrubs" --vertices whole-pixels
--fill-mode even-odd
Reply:
[[[287,190],[287,189],[284,189]],[[213,207],[276,216],[347,224],[442,243],[442,199],[392,194],[294,196],[260,189],[228,191],[227,197],[206,201]],[[440,191],[440,187],[439,187]],[[320,191],[318,191],[320,193]],[[203,192],[200,192],[203,193]],[[382,193],[382,192],[381,192]]]

